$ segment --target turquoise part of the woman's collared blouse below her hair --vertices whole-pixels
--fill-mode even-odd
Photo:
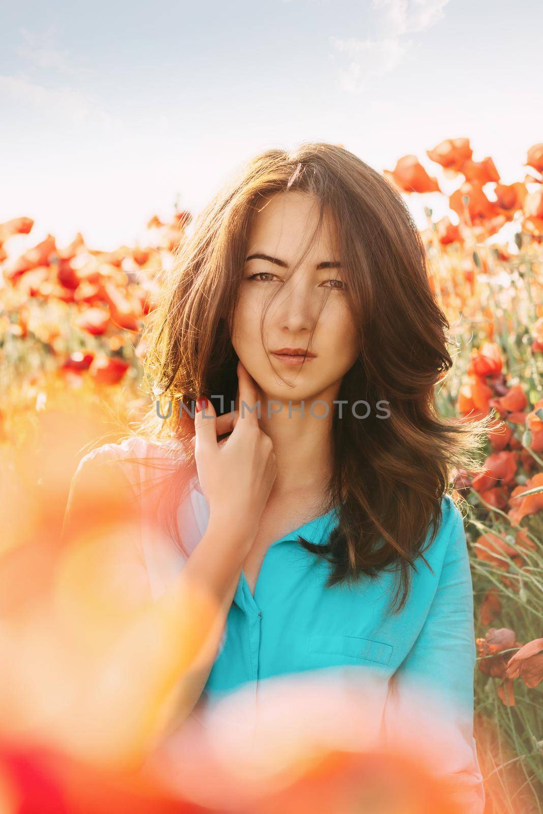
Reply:
[[[324,667],[371,667],[384,680],[400,676],[436,690],[467,718],[473,709],[476,650],[473,597],[463,518],[442,499],[436,538],[419,557],[403,610],[391,613],[392,569],[356,587],[325,587],[329,565],[296,542],[326,541],[337,523],[322,514],[276,540],[263,559],[254,597],[243,571],[219,654],[204,693],[220,696],[271,676]],[[429,539],[429,532],[427,541]],[[431,570],[432,569],[432,570]]]

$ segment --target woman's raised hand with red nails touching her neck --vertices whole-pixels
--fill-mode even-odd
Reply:
[[[237,377],[239,403],[254,407],[258,393],[241,361]],[[232,433],[218,443],[218,431],[228,432],[228,424]],[[194,459],[210,516],[236,524],[252,545],[277,475],[272,440],[260,429],[256,411],[245,409],[240,415],[235,410],[217,419],[209,400],[195,413],[194,429]]]

